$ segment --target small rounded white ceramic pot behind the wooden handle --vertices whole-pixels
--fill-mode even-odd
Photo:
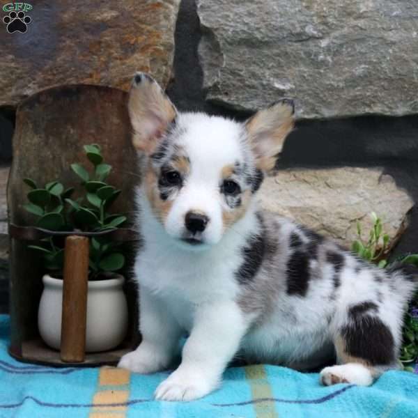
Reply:
[[[40,297],[38,327],[48,346],[60,349],[63,280],[45,274]],[[111,350],[126,335],[127,303],[123,293],[123,277],[88,281],[86,352]]]

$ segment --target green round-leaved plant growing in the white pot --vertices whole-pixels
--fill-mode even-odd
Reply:
[[[38,186],[31,178],[24,183],[30,187],[27,194],[28,203],[24,208],[33,214],[36,226],[49,231],[88,231],[101,232],[118,229],[126,222],[121,214],[109,212],[121,190],[106,183],[112,167],[103,161],[100,146],[84,146],[91,170],[82,164],[71,164],[71,169],[82,181],[84,193],[73,199],[74,187],[65,189],[62,183],[52,181],[44,187]],[[54,277],[61,277],[64,261],[64,243],[61,237],[50,236],[40,245],[29,245],[38,251],[45,268]],[[123,268],[123,256],[118,242],[112,242],[106,235],[90,238],[89,279],[103,277],[103,273],[116,272]]]

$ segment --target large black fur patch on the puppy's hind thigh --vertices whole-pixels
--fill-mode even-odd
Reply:
[[[361,309],[359,309],[361,311]],[[395,361],[394,336],[382,321],[357,312],[353,323],[341,329],[349,355],[371,365],[389,365]]]

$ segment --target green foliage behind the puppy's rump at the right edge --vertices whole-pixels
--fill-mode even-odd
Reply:
[[[389,235],[382,231],[382,219],[371,213],[373,226],[369,231],[369,239],[362,240],[362,225],[357,222],[358,238],[353,242],[352,251],[366,261],[378,264],[385,268],[390,265],[386,258]],[[418,268],[418,254],[405,254],[396,258],[397,262],[412,264]],[[412,371],[410,364],[418,360],[418,293],[411,300],[408,311],[405,313],[403,323],[403,344],[401,348],[401,357],[399,358],[405,370]]]

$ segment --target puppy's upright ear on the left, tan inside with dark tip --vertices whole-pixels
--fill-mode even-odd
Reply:
[[[127,103],[132,123],[132,142],[137,150],[153,153],[158,141],[177,115],[176,108],[155,80],[137,72]]]

